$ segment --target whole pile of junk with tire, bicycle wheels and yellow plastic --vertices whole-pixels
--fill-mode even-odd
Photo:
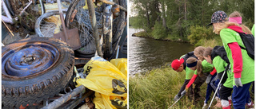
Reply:
[[[2,108],[127,108],[126,5],[2,0]]]

